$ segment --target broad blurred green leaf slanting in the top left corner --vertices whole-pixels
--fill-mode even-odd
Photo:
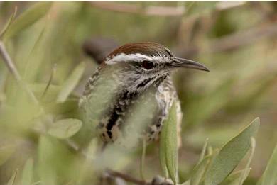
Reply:
[[[36,21],[48,13],[51,6],[51,1],[41,1],[31,6],[31,8],[23,12],[15,21],[13,21],[13,23],[11,23],[11,26],[6,30],[4,38],[11,38],[33,25],[33,23],[36,23]]]

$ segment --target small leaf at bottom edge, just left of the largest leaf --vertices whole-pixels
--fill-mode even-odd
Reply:
[[[190,185],[199,185],[202,182],[203,177],[205,176],[205,172],[207,170],[207,167],[210,164],[210,159],[211,158],[212,158],[212,155],[205,157],[192,170],[192,175],[191,175],[191,178],[190,178]]]

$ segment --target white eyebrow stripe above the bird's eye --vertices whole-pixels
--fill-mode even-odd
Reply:
[[[143,60],[161,61],[161,60],[169,60],[169,58],[163,57],[161,55],[152,57],[152,56],[143,55],[141,53],[134,53],[134,54],[129,54],[129,55],[126,55],[125,53],[121,53],[120,55],[116,55],[116,56],[112,57],[112,59],[107,58],[107,60],[105,60],[105,63],[107,63],[108,65],[113,65],[116,62],[128,62],[128,61],[141,62]]]

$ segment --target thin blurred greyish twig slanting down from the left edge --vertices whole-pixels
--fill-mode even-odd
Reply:
[[[16,65],[14,65],[13,61],[11,60],[9,53],[6,51],[6,47],[1,40],[0,40],[0,55],[3,58],[5,65],[8,67],[9,71],[13,75],[14,79],[16,79],[16,82],[18,82],[18,84],[27,92],[27,94],[30,96],[33,103],[36,103],[36,105],[38,105],[39,103],[38,103],[38,100],[36,99],[36,96],[23,82],[18,70],[16,69]]]

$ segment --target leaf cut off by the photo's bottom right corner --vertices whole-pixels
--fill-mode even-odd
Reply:
[[[275,185],[277,183],[277,145],[268,161],[266,170],[257,185]]]

